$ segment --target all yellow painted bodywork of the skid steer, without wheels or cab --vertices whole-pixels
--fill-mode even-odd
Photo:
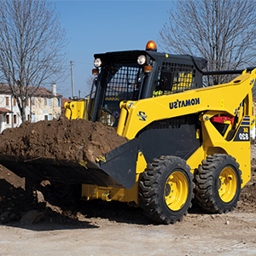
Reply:
[[[183,79],[183,76],[181,77]],[[170,119],[189,113],[200,113],[201,131],[195,137],[201,138],[201,147],[187,160],[193,173],[202,160],[209,154],[230,154],[236,158],[241,169],[241,187],[251,177],[250,166],[250,129],[255,123],[252,113],[252,88],[256,79],[256,70],[240,76],[228,84],[214,85],[207,88],[187,90],[177,94],[158,96],[139,101],[120,102],[120,117],[117,132],[120,136],[133,139],[143,128],[160,119]],[[241,102],[244,102],[241,107]],[[84,102],[68,102],[66,105],[68,118],[76,119],[86,116]],[[72,110],[72,115],[70,114]],[[75,111],[73,111],[76,109]],[[229,125],[221,135],[212,125],[212,117],[236,117],[236,123],[224,121]],[[239,137],[239,140],[235,139]],[[244,141],[243,141],[244,140]],[[139,206],[138,183],[140,174],[147,167],[143,152],[137,154],[136,183],[131,189],[82,185],[84,200],[102,199],[103,201],[135,202]]]

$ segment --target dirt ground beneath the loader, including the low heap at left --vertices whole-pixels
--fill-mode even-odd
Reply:
[[[0,166],[0,255],[256,255],[254,142],[252,179],[228,214],[193,206],[183,221],[157,225],[124,203],[69,201],[61,186]]]

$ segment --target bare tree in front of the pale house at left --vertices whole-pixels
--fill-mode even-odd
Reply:
[[[45,0],[0,0],[0,77],[26,120],[26,101],[65,70],[66,32]]]

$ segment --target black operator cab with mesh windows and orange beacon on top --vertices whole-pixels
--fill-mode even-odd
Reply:
[[[96,54],[93,73],[98,74],[89,119],[116,127],[122,101],[162,96],[202,87],[198,71],[207,60],[189,55],[158,53],[153,41],[146,50]],[[92,96],[91,96],[92,98]]]

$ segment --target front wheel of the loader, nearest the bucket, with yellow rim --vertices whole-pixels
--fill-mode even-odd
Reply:
[[[181,221],[191,207],[192,177],[185,160],[175,156],[154,159],[140,181],[140,206],[146,216],[159,224]]]

